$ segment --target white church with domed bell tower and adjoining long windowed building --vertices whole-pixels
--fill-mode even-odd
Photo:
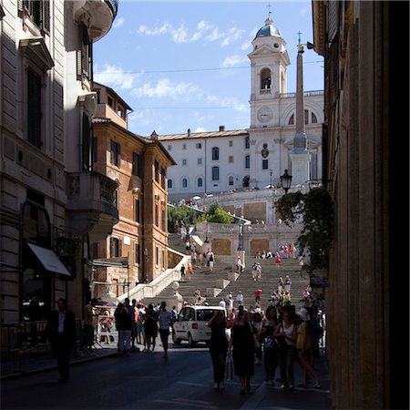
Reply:
[[[251,124],[249,128],[157,135],[177,162],[169,169],[169,200],[220,192],[280,186],[285,169],[292,174],[297,93],[287,92],[290,58],[272,18],[251,42]],[[323,91],[303,92],[308,169],[292,185],[322,179]]]

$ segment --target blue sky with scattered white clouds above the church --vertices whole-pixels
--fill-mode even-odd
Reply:
[[[94,44],[94,80],[132,108],[128,129],[143,137],[249,128],[247,55],[269,12],[287,43],[294,92],[298,32],[313,43],[311,1],[119,0],[113,26]],[[323,89],[323,57],[306,47],[303,87]]]

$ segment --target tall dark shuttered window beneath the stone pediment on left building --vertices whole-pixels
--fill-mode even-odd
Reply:
[[[27,71],[27,140],[41,149],[41,77],[34,71]]]

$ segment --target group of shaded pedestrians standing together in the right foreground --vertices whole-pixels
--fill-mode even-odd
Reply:
[[[317,310],[301,308],[296,312],[292,304],[270,305],[264,312],[260,308],[245,309],[241,304],[238,310],[233,308],[227,318],[215,313],[208,323],[213,387],[225,387],[226,364],[232,358],[241,395],[251,392],[255,364],[263,365],[266,384],[279,382],[284,391],[293,391],[295,386],[306,388],[310,381],[313,388],[319,388],[321,382],[314,364],[319,360],[322,324]],[[231,329],[229,341],[225,328]],[[302,380],[298,383],[294,380],[295,363],[302,369]]]

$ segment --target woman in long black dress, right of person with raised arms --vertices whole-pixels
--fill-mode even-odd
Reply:
[[[231,330],[229,354],[233,351],[233,369],[241,381],[241,395],[251,392],[254,374],[255,342],[247,311],[238,313],[238,323]]]

